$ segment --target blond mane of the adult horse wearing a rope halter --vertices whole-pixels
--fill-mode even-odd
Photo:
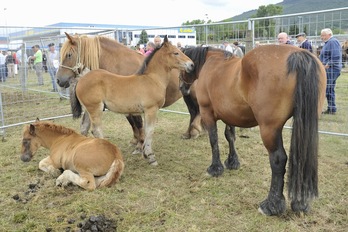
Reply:
[[[74,42],[72,44],[70,40],[67,40],[61,48],[61,63],[62,59],[70,52],[78,55],[80,52],[80,62],[84,67],[90,70],[99,69],[99,57],[100,57],[100,39],[101,36],[88,37],[86,35],[73,36]],[[104,37],[106,38],[106,37]]]

